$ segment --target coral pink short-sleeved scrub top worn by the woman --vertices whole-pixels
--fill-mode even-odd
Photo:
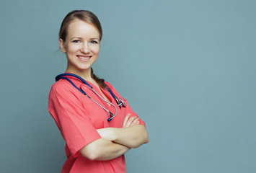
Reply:
[[[94,94],[92,90],[88,89],[79,79],[72,76],[69,76],[69,79],[71,79],[76,86],[81,87],[89,97],[92,97],[92,99],[100,103],[100,105],[115,114],[115,107],[107,105],[106,102],[102,101],[100,97]],[[92,85],[97,93],[101,94],[96,86],[91,83],[89,84]],[[79,150],[88,143],[101,138],[96,129],[110,127],[122,128],[124,117],[128,113],[130,113],[131,116],[138,117],[136,112],[133,112],[128,105],[126,99],[120,97],[120,94],[110,83],[105,82],[105,84],[107,84],[118,98],[122,98],[126,104],[126,107],[118,107],[110,92],[108,92],[107,89],[101,89],[107,98],[110,99],[110,102],[118,108],[118,114],[110,122],[107,122],[107,118],[110,117],[110,114],[79,92],[69,81],[61,79],[53,84],[50,89],[48,110],[56,121],[58,129],[61,130],[61,135],[66,141],[65,150],[68,159],[63,165],[62,173],[126,172],[124,155],[107,161],[92,161],[81,156],[79,152]],[[139,120],[139,123],[145,125],[142,120]]]

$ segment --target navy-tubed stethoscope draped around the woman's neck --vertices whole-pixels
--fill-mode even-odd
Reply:
[[[115,115],[117,115],[117,113],[118,113],[117,107],[115,107],[115,115],[112,114],[112,112],[110,112],[110,111],[107,110],[105,107],[103,107],[102,105],[100,105],[100,103],[96,102],[94,99],[92,99],[91,97],[89,97],[89,96],[87,95],[87,93],[84,92],[83,89],[81,89],[81,88],[79,89],[79,87],[77,87],[77,86],[73,83],[73,81],[71,81],[71,80],[70,80],[69,78],[67,78],[66,76],[73,76],[73,77],[79,79],[79,80],[82,81],[84,84],[86,84],[86,86],[87,86],[88,89],[91,89],[91,90],[92,90],[95,94],[97,94],[102,100],[104,100],[104,101],[107,102],[108,104],[110,104],[110,105],[112,105],[112,106],[115,107],[115,105],[112,104],[112,102],[108,102],[106,99],[102,98],[102,97],[100,96],[100,94],[98,94],[98,93],[92,88],[92,86],[91,86],[90,84],[88,84],[87,81],[85,81],[84,79],[82,79],[80,76],[77,76],[76,74],[69,74],[69,73],[66,73],[66,74],[59,74],[58,76],[56,76],[55,80],[58,81],[58,80],[60,80],[60,79],[66,79],[66,80],[69,81],[76,89],[78,89],[82,94],[84,94],[84,95],[87,96],[89,99],[91,99],[94,103],[96,103],[97,105],[99,105],[100,107],[102,107],[102,109],[104,109],[105,111],[109,112],[109,113],[110,113],[110,118],[107,119],[108,122],[110,122],[110,121],[115,117]],[[115,96],[115,94],[111,91],[111,89],[110,89],[106,84],[105,84],[105,86],[107,87],[108,92],[110,92],[110,94],[112,95],[112,97],[115,99],[115,102],[117,102],[118,106],[119,106],[120,108],[121,108],[121,107],[126,107],[125,102],[123,102],[123,99],[121,99],[121,98],[118,99],[118,97]]]

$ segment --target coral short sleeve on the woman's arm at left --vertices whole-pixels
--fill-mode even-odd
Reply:
[[[101,137],[81,105],[80,93],[65,83],[57,83],[50,89],[48,110],[61,130],[71,154],[81,156],[81,148]]]

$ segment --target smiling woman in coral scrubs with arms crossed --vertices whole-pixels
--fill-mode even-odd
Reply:
[[[63,19],[59,44],[68,65],[56,77],[48,105],[66,141],[63,173],[126,172],[125,152],[149,142],[144,121],[110,83],[94,75],[101,39],[100,22],[92,12],[76,10]],[[120,99],[116,102],[112,94]]]

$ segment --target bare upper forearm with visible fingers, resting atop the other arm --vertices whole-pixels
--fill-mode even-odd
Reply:
[[[149,142],[149,135],[144,125],[138,124],[138,118],[125,116],[123,128],[102,128],[97,132],[102,136],[115,143],[128,146],[129,148],[137,148],[144,143]]]

